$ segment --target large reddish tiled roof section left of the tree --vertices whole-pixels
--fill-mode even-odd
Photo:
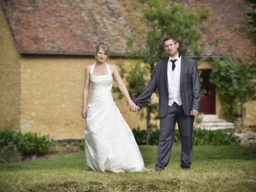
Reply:
[[[1,0],[18,51],[93,53],[107,40],[124,53],[127,33],[118,0]]]

